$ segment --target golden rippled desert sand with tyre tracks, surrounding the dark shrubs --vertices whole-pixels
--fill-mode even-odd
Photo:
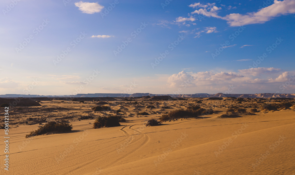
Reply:
[[[11,109],[10,166],[9,171],[4,170],[4,130],[1,129],[0,173],[295,175],[294,109],[219,118],[229,105],[248,109],[259,104],[204,100],[199,105],[213,108],[216,113],[201,119],[180,119],[145,127],[146,120],[157,119],[169,111],[196,104],[196,101],[109,103],[112,110],[122,110],[120,115],[126,116],[128,122],[118,127],[92,129],[96,116],[115,113],[93,112],[91,107],[96,106],[93,102],[42,101],[42,107]],[[148,105],[154,105],[155,109],[145,108]],[[161,106],[173,109],[162,109]],[[150,115],[138,116],[140,111]],[[81,116],[92,116],[93,119],[79,121]],[[30,120],[30,117],[39,119]],[[41,126],[38,123],[61,118],[73,125],[73,132],[25,138]]]

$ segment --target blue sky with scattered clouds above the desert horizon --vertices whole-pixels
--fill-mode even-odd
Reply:
[[[0,94],[294,93],[295,0],[2,0],[0,9]]]

